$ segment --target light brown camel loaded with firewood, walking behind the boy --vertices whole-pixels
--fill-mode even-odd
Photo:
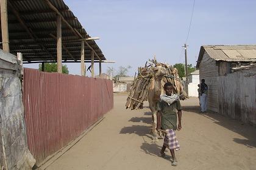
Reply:
[[[171,83],[174,84],[174,93],[177,94],[184,94],[182,95],[182,100],[186,98],[186,94],[183,91],[183,86],[179,80],[179,76],[177,74],[177,69],[171,67],[171,72],[173,73],[172,75],[172,81]],[[166,78],[168,77],[168,70],[163,67],[163,66],[157,66],[154,67],[154,77],[152,78],[151,81],[151,86],[148,91],[148,102],[149,102],[149,108],[151,109],[152,112],[152,134],[153,134],[153,141],[158,141],[157,137],[157,102],[160,98],[160,95],[164,93],[163,90],[163,84],[165,84],[167,81],[170,79]],[[162,133],[160,132],[159,134],[162,136]]]

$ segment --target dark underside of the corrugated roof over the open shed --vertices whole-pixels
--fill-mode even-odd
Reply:
[[[84,38],[90,37],[63,0],[49,1],[56,9],[59,10],[63,18],[65,18],[73,29],[76,29]],[[9,0],[7,2],[10,53],[15,55],[16,52],[23,53],[24,61],[51,61],[53,60],[52,57],[57,59],[57,43],[55,38],[51,36],[56,36],[57,32],[56,13],[49,7],[47,2],[45,0]],[[13,9],[19,13],[20,18],[25,22],[26,26],[33,33],[33,35],[36,36],[35,39],[37,42],[35,42],[35,40],[29,36],[29,33],[27,33],[26,29],[24,29],[24,27],[18,21]],[[0,34],[0,38],[1,36],[2,35]],[[72,32],[68,26],[62,22],[62,41],[70,39],[80,38],[77,37],[77,35],[75,35],[74,32]],[[43,49],[38,42],[42,44],[45,49],[48,50],[48,52],[46,52],[46,50]],[[87,42],[98,54],[101,60],[106,60],[95,41],[91,40]],[[80,60],[80,41],[63,42],[63,45],[76,60]],[[0,46],[2,45],[0,44]],[[49,53],[51,55],[49,55]],[[94,57],[96,60],[98,60],[96,56]],[[62,58],[64,61],[73,60],[73,58],[64,48],[62,48]],[[85,60],[90,60],[90,58],[91,49],[85,44]]]

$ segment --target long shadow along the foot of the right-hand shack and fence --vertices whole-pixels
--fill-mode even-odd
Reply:
[[[239,144],[244,144],[248,148],[256,148],[256,128],[245,124],[239,120],[234,120],[229,117],[224,117],[223,115],[216,114],[213,112],[210,113],[200,113],[200,107],[199,106],[183,106],[183,111],[186,112],[193,112],[195,114],[200,114],[206,118],[209,118],[210,120],[213,120],[214,123],[219,124],[220,126],[223,126],[230,131],[236,132],[237,134],[242,135],[244,138],[247,139],[240,139],[240,138],[233,138],[233,141]]]

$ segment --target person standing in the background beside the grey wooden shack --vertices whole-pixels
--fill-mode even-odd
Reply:
[[[200,106],[201,106],[201,112],[206,112],[207,111],[207,91],[208,91],[208,86],[205,84],[205,80],[201,80],[200,84]]]

